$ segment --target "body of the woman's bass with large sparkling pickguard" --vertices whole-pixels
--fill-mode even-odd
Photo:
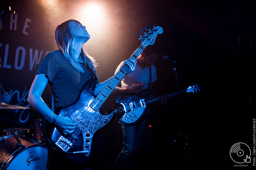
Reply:
[[[92,88],[96,83],[96,79],[87,81],[74,104],[55,112],[59,116],[77,120],[77,127],[73,133],[64,135],[50,123],[46,127],[47,136],[53,148],[77,163],[88,159],[94,134],[109,124],[115,114],[114,110],[107,114],[102,114],[100,111],[95,111],[90,107],[90,103],[96,97],[92,94]]]

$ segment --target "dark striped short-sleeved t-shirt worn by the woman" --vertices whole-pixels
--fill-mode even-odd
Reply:
[[[86,65],[79,64],[84,70],[83,74],[68,62],[61,50],[58,50],[48,53],[39,65],[36,74],[45,74],[48,78],[56,108],[74,103],[84,84],[92,79]]]

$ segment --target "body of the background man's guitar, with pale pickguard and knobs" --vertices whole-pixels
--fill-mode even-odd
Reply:
[[[121,118],[118,117],[122,124],[131,126],[135,124],[142,115],[144,116],[149,112],[144,100],[148,99],[150,93],[150,89],[143,89],[139,93],[117,96],[114,109],[116,110],[116,115],[119,115],[119,117],[122,116]]]

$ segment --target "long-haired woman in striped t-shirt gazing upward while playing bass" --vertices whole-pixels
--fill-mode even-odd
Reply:
[[[86,53],[84,48],[85,42],[89,39],[90,35],[85,26],[76,20],[68,20],[58,25],[55,30],[55,40],[60,50],[45,56],[38,67],[28,94],[28,102],[31,107],[49,122],[55,124],[65,135],[74,131],[76,120],[56,115],[44,103],[41,95],[49,83],[55,97],[55,107],[57,109],[67,107],[76,102],[84,83],[92,77],[97,78],[95,60]],[[134,70],[136,61],[128,60],[124,63],[129,67],[127,73]],[[102,83],[98,82],[93,94],[97,96],[109,81],[110,79]],[[54,152],[48,158],[48,169],[84,169],[88,167],[87,162],[75,163]],[[100,161],[97,164],[99,165]]]

